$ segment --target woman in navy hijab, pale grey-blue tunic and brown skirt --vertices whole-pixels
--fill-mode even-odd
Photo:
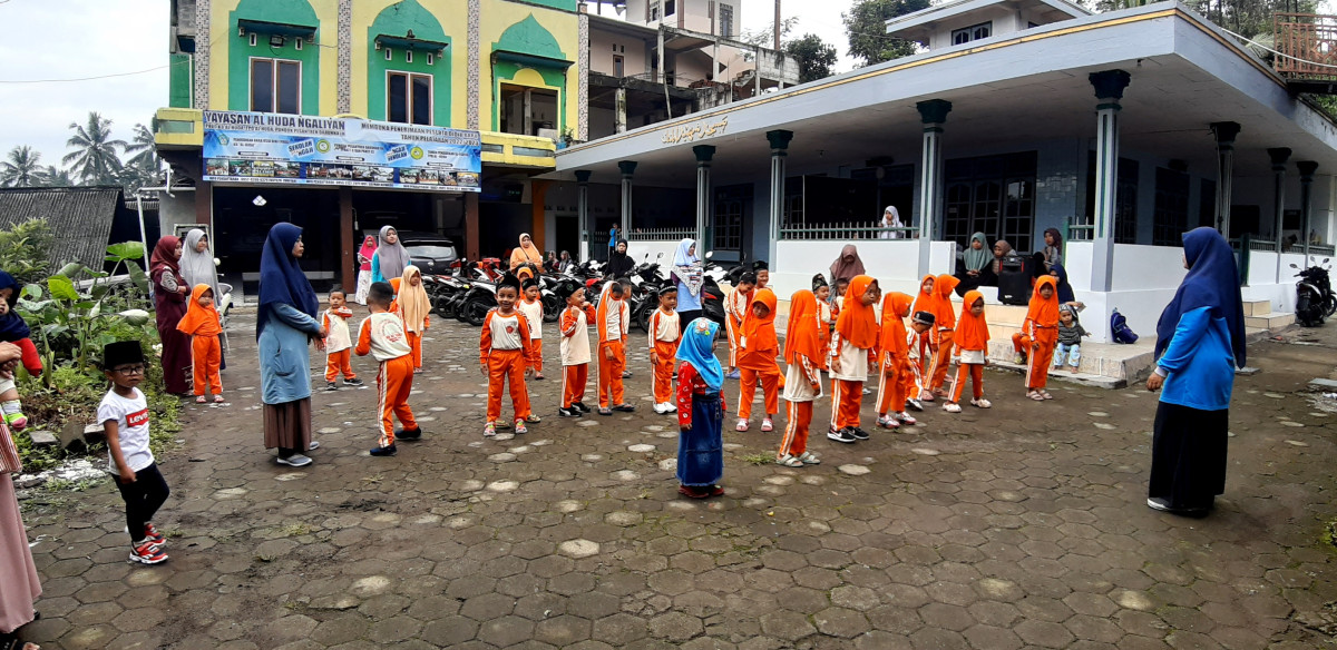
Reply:
[[[303,451],[312,442],[310,350],[325,348],[325,328],[317,320],[320,300],[297,260],[302,256],[302,228],[275,224],[259,255],[261,399],[265,403],[265,448],[278,447],[278,463],[312,464]]]

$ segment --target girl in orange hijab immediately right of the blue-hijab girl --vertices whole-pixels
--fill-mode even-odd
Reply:
[[[769,288],[753,294],[751,311],[743,322],[742,336],[738,338],[738,367],[742,380],[738,383],[738,431],[747,431],[751,418],[753,396],[757,395],[757,380],[761,379],[766,415],[761,420],[762,431],[775,428],[771,416],[779,412],[779,388],[785,386],[785,375],[779,374],[775,359],[779,356],[779,339],[775,336],[775,292]]]

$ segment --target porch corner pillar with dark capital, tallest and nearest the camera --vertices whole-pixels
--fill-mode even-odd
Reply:
[[[1092,72],[1095,88],[1095,239],[1091,291],[1110,291],[1114,279],[1114,219],[1119,192],[1119,100],[1131,76],[1122,69]]]

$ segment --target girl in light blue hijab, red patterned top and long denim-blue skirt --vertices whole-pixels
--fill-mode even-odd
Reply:
[[[725,368],[715,358],[719,324],[698,318],[678,344],[678,491],[693,499],[719,497],[725,474]]]

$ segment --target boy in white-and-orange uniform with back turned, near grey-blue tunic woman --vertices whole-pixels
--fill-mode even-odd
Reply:
[[[389,283],[376,282],[366,292],[366,308],[372,312],[357,328],[357,348],[353,351],[358,356],[370,354],[380,370],[376,371],[376,406],[381,416],[380,435],[373,456],[393,456],[396,438],[417,440],[422,438],[422,430],[413,419],[413,410],[409,408],[409,392],[413,391],[413,348],[409,347],[408,334],[404,331],[404,322],[397,314],[390,312],[390,303],[394,300],[394,290]],[[400,419],[400,430],[394,430],[392,416]]]

